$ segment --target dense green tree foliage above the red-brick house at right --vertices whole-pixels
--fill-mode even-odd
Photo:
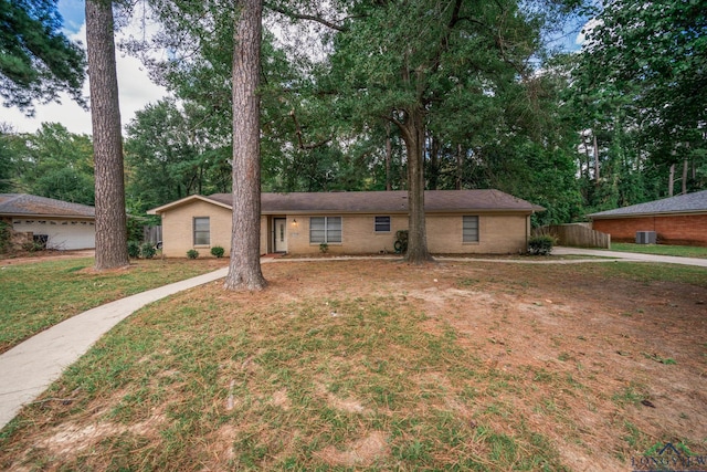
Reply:
[[[591,128],[597,140],[582,145],[590,211],[667,196],[672,165],[680,190],[707,186],[698,170],[707,165],[703,3],[605,2],[588,31],[571,102],[584,115],[578,129]]]

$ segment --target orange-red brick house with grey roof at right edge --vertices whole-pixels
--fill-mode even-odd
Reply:
[[[636,232],[655,231],[666,244],[707,245],[707,190],[589,216],[592,229],[613,242],[635,242]]]

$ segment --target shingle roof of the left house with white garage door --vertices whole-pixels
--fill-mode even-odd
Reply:
[[[95,218],[93,207],[27,193],[0,193],[0,216]]]

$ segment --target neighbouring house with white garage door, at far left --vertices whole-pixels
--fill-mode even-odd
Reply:
[[[85,204],[25,193],[0,193],[0,221],[48,249],[95,248],[95,209]]]

